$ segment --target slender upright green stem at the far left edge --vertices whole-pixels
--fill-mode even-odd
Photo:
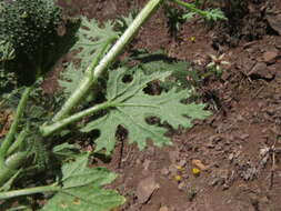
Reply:
[[[6,152],[9,150],[9,148],[12,143],[12,140],[14,138],[14,133],[17,132],[17,129],[18,129],[18,124],[19,124],[20,119],[24,112],[24,108],[27,105],[29,94],[32,90],[33,90],[33,86],[27,87],[21,99],[20,99],[20,103],[17,108],[16,117],[14,117],[12,124],[10,127],[10,130],[9,130],[7,137],[4,138],[4,140],[1,144],[1,148],[0,148],[0,163],[3,162],[4,157],[6,157]]]

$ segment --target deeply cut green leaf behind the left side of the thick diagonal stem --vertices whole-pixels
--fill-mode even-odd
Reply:
[[[61,80],[59,80],[59,86],[66,98],[73,93],[83,79],[84,70],[92,61],[93,54],[100,52],[104,43],[111,43],[119,38],[119,33],[113,30],[113,27],[111,21],[99,27],[94,19],[81,18],[81,27],[76,34],[78,41],[72,47],[72,50],[79,51],[74,56],[74,60],[80,62],[78,64],[70,62],[67,70],[61,72]]]

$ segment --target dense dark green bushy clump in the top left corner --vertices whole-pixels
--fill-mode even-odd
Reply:
[[[49,0],[4,1],[1,13],[1,38],[22,53],[38,53],[42,40],[48,46],[57,34],[59,9]],[[43,47],[43,48],[47,48]]]

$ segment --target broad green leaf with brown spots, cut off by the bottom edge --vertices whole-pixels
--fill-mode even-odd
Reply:
[[[88,155],[62,167],[61,190],[52,197],[43,211],[104,211],[121,205],[124,198],[101,187],[111,183],[117,174],[104,168],[90,169]]]

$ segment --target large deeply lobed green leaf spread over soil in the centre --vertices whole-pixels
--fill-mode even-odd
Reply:
[[[149,82],[164,80],[171,72],[154,72],[144,74],[141,70],[131,72],[132,81],[123,82],[123,77],[129,74],[126,69],[111,71],[109,74],[107,99],[114,104],[114,109],[99,120],[89,122],[82,132],[99,130],[96,151],[106,149],[109,154],[116,143],[118,125],[128,130],[129,141],[136,142],[140,150],[147,145],[147,140],[152,140],[155,145],[170,144],[165,137],[167,129],[149,124],[147,119],[157,117],[161,122],[168,122],[174,129],[192,127],[192,120],[204,119],[210,115],[204,111],[204,104],[183,104],[181,101],[190,97],[187,90],[171,89],[160,96],[149,96],[143,89]]]

